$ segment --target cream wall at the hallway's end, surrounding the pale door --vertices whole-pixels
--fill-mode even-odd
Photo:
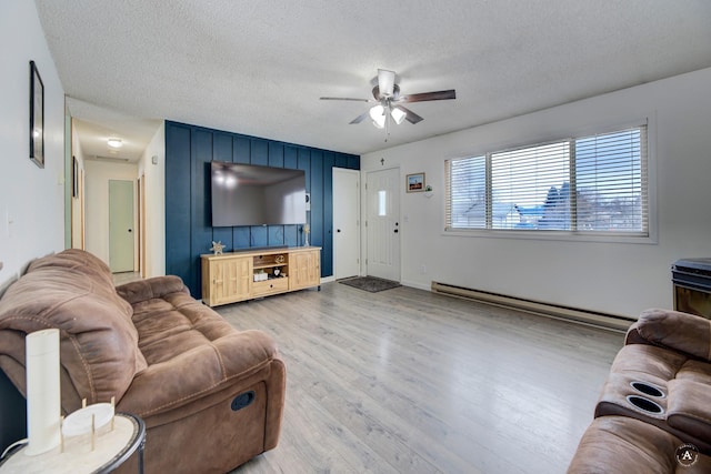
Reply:
[[[100,162],[86,160],[86,250],[109,264],[109,180],[133,182],[133,229],[137,229],[137,177],[136,163]],[[138,242],[133,255],[138,259]],[[134,263],[138,269],[138,262]]]

